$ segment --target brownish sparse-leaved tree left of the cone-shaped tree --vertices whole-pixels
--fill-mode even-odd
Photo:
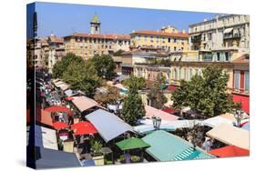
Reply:
[[[106,86],[104,88],[106,90],[97,90],[96,95],[94,96],[94,99],[103,106],[116,104],[118,100],[122,99],[119,89],[116,86]]]

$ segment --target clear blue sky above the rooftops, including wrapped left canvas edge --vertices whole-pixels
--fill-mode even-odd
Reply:
[[[37,14],[37,35],[57,36],[73,33],[89,33],[90,21],[97,14],[102,34],[130,34],[133,30],[159,30],[173,25],[177,29],[189,30],[189,25],[213,18],[212,13],[156,10],[143,8],[112,7],[100,5],[72,5],[36,3],[27,5],[27,37],[31,36],[33,11]]]

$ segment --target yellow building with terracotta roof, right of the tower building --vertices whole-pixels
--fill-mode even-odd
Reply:
[[[173,26],[163,27],[160,31],[140,30],[131,34],[131,45],[153,46],[166,52],[189,50],[189,34],[179,32]]]

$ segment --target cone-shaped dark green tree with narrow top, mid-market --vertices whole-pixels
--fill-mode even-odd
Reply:
[[[145,114],[145,106],[138,95],[138,79],[133,77],[129,81],[128,96],[124,100],[121,116],[129,125],[134,126]]]

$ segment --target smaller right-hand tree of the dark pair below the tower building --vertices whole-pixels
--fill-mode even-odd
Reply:
[[[93,58],[88,59],[87,62],[94,65],[98,76],[110,80],[116,75],[116,64],[111,55],[95,55]]]

